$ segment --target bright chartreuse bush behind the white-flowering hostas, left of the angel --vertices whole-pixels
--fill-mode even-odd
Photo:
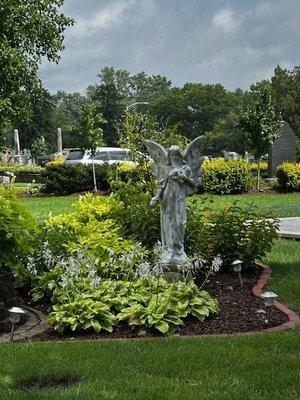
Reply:
[[[99,268],[109,260],[109,254],[122,255],[131,251],[135,244],[120,233],[120,226],[111,218],[122,205],[114,199],[106,199],[87,194],[80,197],[74,205],[74,211],[60,214],[45,220],[40,236],[41,243],[47,243],[56,257],[71,255],[83,251],[99,260]],[[140,246],[143,257],[145,251]],[[117,268],[117,265],[115,266]],[[113,268],[110,271],[113,273]]]

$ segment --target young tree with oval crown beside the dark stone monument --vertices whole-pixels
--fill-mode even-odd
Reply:
[[[257,189],[260,188],[260,159],[266,154],[281,133],[282,116],[276,111],[275,101],[268,82],[251,87],[252,101],[243,110],[239,126],[247,141],[248,149],[257,159]]]

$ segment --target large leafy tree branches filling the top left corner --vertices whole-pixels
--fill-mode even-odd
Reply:
[[[0,3],[0,125],[27,121],[30,94],[41,87],[42,58],[58,62],[64,31],[73,24],[59,13],[64,0]]]

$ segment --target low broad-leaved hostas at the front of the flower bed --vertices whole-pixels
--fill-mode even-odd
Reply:
[[[65,296],[62,289],[62,298]],[[72,292],[67,297],[68,301],[53,307],[48,318],[58,332],[90,328],[111,332],[114,325],[127,321],[166,334],[175,332],[188,315],[203,321],[218,311],[217,301],[195,284],[168,283],[151,276],[131,282],[106,280],[93,291]]]

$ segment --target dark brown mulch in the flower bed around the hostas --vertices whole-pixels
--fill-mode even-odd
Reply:
[[[264,328],[277,326],[287,321],[285,315],[272,309],[271,322],[266,323],[267,314],[264,303],[261,299],[255,297],[252,293],[252,287],[255,285],[261,275],[261,269],[252,269],[243,273],[243,288],[240,288],[239,279],[236,273],[229,272],[215,275],[205,285],[211,296],[219,301],[220,312],[213,314],[200,322],[194,317],[186,318],[185,325],[181,328],[180,335],[203,335],[217,333],[236,333],[260,331]],[[137,338],[137,337],[155,337],[159,336],[155,332],[145,332],[132,328],[127,324],[116,327],[112,333],[100,332],[64,334],[59,335],[52,328],[40,335],[36,335],[34,341],[50,340],[86,340],[86,339],[113,339],[113,338]]]

